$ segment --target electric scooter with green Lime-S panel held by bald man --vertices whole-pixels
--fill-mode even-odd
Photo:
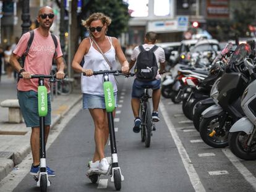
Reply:
[[[22,78],[22,75],[19,75],[19,78]],[[48,114],[48,98],[45,78],[48,78],[48,81],[52,83],[57,79],[56,75],[31,75],[30,78],[38,78],[38,115],[40,117],[40,169],[38,175],[33,176],[33,178],[36,185],[41,188],[41,192],[46,192],[51,182],[46,170],[45,116]]]

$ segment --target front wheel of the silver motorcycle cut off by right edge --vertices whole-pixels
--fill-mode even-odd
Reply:
[[[252,146],[247,146],[249,136],[244,131],[229,133],[229,148],[233,154],[240,159],[255,160],[256,159],[256,141],[252,141]]]

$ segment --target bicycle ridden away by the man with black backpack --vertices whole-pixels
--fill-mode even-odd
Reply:
[[[156,130],[155,123],[152,121],[150,102],[148,101],[148,99],[151,98],[151,96],[148,94],[149,88],[150,87],[145,87],[142,96],[140,96],[139,113],[139,117],[142,120],[142,124],[140,125],[140,136],[142,142],[145,142],[146,148],[150,147],[151,136],[153,135],[152,130]]]

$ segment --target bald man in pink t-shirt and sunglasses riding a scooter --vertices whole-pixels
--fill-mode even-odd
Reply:
[[[51,72],[53,59],[56,59],[58,72],[56,78],[64,78],[65,64],[62,59],[61,44],[55,48],[53,38],[49,28],[53,25],[54,14],[51,7],[42,7],[36,20],[39,27],[34,30],[33,42],[25,57],[25,64],[22,68],[19,63],[20,57],[27,49],[30,33],[27,32],[20,38],[17,47],[11,56],[11,64],[23,78],[17,83],[17,96],[19,99],[20,110],[27,127],[32,127],[30,144],[32,149],[33,164],[30,169],[30,175],[38,175],[40,169],[40,125],[38,117],[38,79],[30,78],[33,74],[49,75]],[[56,54],[55,54],[56,52]],[[51,99],[49,97],[49,82],[45,80],[45,86],[48,90],[48,114],[45,117],[45,143],[49,135],[51,125]],[[54,177],[55,172],[49,167],[47,173],[49,177]]]

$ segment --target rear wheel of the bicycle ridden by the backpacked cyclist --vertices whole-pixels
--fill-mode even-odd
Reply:
[[[150,109],[150,103],[147,101],[145,102],[145,147],[150,147],[150,141],[151,141],[151,131],[152,131],[152,120],[151,120],[151,109]]]

